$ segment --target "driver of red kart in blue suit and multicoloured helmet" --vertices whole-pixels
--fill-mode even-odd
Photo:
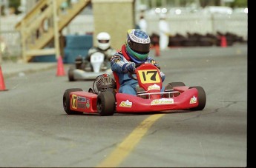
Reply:
[[[139,29],[128,30],[121,51],[111,58],[111,70],[119,76],[119,93],[136,95],[137,91],[141,91],[142,88],[138,87],[138,81],[128,76],[128,72],[134,73],[135,64],[148,62],[154,64],[160,70],[160,64],[148,56],[150,45],[151,39],[147,33]],[[160,75],[162,81],[164,81],[165,74],[160,72]],[[161,91],[163,90],[164,88]]]

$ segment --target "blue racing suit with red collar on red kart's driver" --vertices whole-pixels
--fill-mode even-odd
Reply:
[[[130,78],[128,76],[128,64],[130,63],[131,58],[128,57],[128,54],[125,52],[125,44],[122,46],[122,50],[118,53],[116,53],[111,58],[111,70],[113,72],[116,72],[116,74],[119,76],[119,93],[127,93],[131,95],[136,95],[137,90],[136,87],[138,85],[138,81]],[[155,61],[153,58],[149,57],[145,62],[154,64],[156,67],[160,69],[160,65],[157,61]],[[162,81],[165,80],[165,74],[163,72],[160,72]],[[161,92],[164,91],[164,88],[162,88]]]

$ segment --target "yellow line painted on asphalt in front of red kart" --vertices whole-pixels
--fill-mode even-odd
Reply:
[[[163,115],[165,114],[151,115],[145,118],[145,120],[111,152],[108,158],[105,158],[97,167],[117,167],[128,156],[131,150],[134,149],[136,144],[139,143],[140,139],[145,135],[152,124]]]

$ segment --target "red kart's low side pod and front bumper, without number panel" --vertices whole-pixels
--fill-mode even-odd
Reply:
[[[186,110],[197,107],[197,89],[174,87],[183,91],[173,98],[140,98],[125,93],[116,93],[116,112],[154,112],[164,110]],[[97,95],[84,91],[70,93],[70,110],[97,113]]]

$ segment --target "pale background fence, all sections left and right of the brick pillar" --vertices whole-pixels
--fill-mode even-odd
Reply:
[[[139,13],[137,13],[136,17],[140,17]],[[22,55],[20,34],[14,28],[19,19],[21,19],[21,16],[1,17],[0,52],[2,57]],[[158,34],[159,16],[145,14],[145,19],[148,22],[148,34]],[[187,33],[234,33],[237,36],[242,36],[246,41],[248,36],[247,20],[247,14],[244,13],[233,13],[231,15],[218,13],[185,13],[179,16],[167,16],[171,34],[173,35],[176,33],[180,33],[183,36],[186,36]],[[62,34],[64,36],[75,34],[85,35],[86,33],[93,33],[93,31],[93,15],[81,14],[76,16],[76,18],[65,27]]]

